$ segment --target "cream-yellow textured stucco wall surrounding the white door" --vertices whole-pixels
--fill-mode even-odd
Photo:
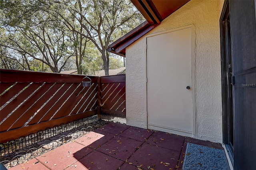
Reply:
[[[196,135],[222,143],[219,18],[223,0],[191,0],[147,35],[194,24],[196,63]],[[146,36],[146,35],[145,35]],[[126,48],[127,124],[147,127],[146,38]]]

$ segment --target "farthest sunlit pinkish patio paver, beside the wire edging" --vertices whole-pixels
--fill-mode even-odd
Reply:
[[[96,133],[96,132],[90,132],[82,137],[75,139],[75,142],[87,147],[87,146],[90,146],[95,141],[98,141],[102,137],[104,137],[103,134]]]

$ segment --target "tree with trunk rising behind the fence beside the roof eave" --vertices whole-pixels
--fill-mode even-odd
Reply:
[[[80,29],[58,13],[63,22],[70,30],[92,41],[101,53],[105,74],[109,75],[109,53],[106,49],[113,41],[113,35],[126,33],[129,31],[127,27],[132,29],[141,23],[141,14],[128,0],[66,0],[63,3],[67,4],[66,10],[80,24]]]

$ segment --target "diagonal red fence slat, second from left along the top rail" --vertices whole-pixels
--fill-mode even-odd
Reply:
[[[2,107],[6,102],[8,102],[11,98],[17,95],[24,87],[26,87],[29,83],[17,83],[10,90],[5,92],[1,96],[0,107]],[[2,85],[2,84],[1,84]]]

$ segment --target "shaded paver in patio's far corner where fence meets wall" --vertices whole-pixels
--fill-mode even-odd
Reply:
[[[114,135],[118,135],[119,133],[122,133],[123,131],[125,131],[126,129],[128,129],[130,126],[126,125],[126,124],[121,124],[121,123],[108,123],[106,126],[98,129],[100,131],[104,131],[107,133],[111,133]]]

